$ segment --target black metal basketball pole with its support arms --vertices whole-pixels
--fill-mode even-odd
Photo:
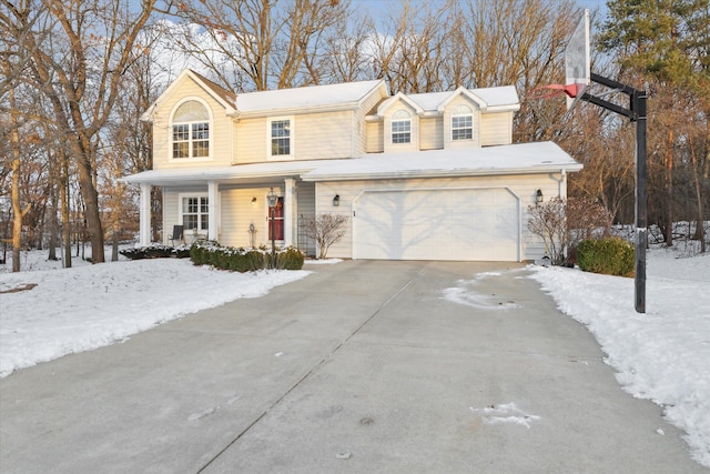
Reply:
[[[594,72],[590,79],[598,84],[613,89],[629,97],[629,108],[585,92],[581,100],[599,105],[636,122],[636,252],[633,274],[633,296],[637,313],[646,313],[646,248],[648,243],[648,191],[646,170],[646,91],[639,91]]]

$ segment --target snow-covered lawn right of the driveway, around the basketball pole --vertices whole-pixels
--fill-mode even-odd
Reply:
[[[633,309],[633,279],[531,269],[559,309],[595,335],[623,389],[660,405],[687,433],[692,457],[710,467],[710,255],[650,252],[645,314]]]

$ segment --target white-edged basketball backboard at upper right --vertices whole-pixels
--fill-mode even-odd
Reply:
[[[567,95],[567,110],[575,107],[590,83],[589,10],[585,9],[565,47],[565,85],[576,89],[575,97]],[[576,88],[570,88],[572,84]]]

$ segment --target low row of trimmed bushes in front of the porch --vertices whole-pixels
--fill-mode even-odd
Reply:
[[[271,268],[271,252],[266,248],[235,249],[222,246],[214,241],[200,241],[192,245],[190,260],[195,265],[211,265],[215,269],[233,272],[251,272]],[[276,268],[285,270],[301,270],[304,255],[297,249],[278,250],[276,252]]]

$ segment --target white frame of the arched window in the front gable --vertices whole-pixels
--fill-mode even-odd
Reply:
[[[204,110],[207,113],[207,120],[190,120],[190,121],[175,121],[175,113],[178,112],[178,110],[180,110],[180,108],[182,105],[184,105],[187,102],[197,102],[200,105],[202,105],[204,108]],[[197,135],[201,133],[204,133],[204,130],[200,129],[200,125],[206,124],[206,133],[207,133],[207,138],[206,140],[203,138],[199,138]],[[169,122],[169,147],[168,147],[168,153],[169,153],[169,160],[170,161],[175,161],[175,162],[185,162],[185,161],[190,161],[190,162],[195,162],[195,161],[211,161],[213,159],[213,150],[214,150],[214,141],[213,141],[213,130],[214,130],[214,120],[213,120],[213,115],[212,115],[212,109],[210,108],[210,105],[207,104],[207,102],[205,102],[204,100],[202,100],[201,98],[197,97],[189,97],[189,98],[184,98],[183,100],[181,100],[180,102],[176,102],[175,105],[173,107],[173,110],[170,113],[170,122]],[[186,139],[185,140],[175,140],[175,128],[176,127],[184,127],[186,128],[186,130],[183,130],[181,132],[178,133],[182,133],[182,134],[186,134]],[[206,148],[207,148],[207,153],[206,154],[201,154],[201,155],[195,155],[195,150],[197,149],[197,143],[205,143],[206,142]],[[186,155],[184,157],[175,157],[175,145],[178,143],[186,143]]]

